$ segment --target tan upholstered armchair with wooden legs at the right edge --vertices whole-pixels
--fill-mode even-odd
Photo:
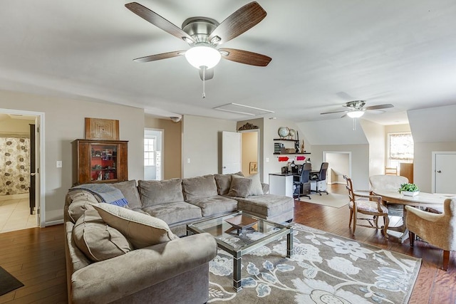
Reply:
[[[442,269],[447,271],[450,251],[456,250],[456,196],[445,199],[443,214],[433,214],[413,206],[405,206],[405,225],[409,231],[410,246],[415,243],[415,235],[443,249]]]

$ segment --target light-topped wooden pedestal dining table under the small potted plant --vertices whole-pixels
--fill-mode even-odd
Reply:
[[[382,196],[382,200],[391,204],[400,204],[403,205],[403,224],[397,227],[388,227],[388,230],[402,232],[402,235],[399,236],[399,242],[403,243],[408,238],[408,229],[405,227],[405,206],[415,206],[415,207],[442,207],[443,201],[450,196],[445,196],[442,194],[432,194],[426,192],[420,192],[420,194],[415,196],[406,196],[395,191],[388,191],[382,189],[373,190],[373,194]]]

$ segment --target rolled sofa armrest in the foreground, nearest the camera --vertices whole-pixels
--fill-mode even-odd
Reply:
[[[108,303],[190,271],[216,255],[217,243],[210,234],[187,236],[75,271],[68,293],[73,303]]]

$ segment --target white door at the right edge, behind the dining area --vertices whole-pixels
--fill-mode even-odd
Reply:
[[[435,193],[456,194],[456,152],[435,152]]]

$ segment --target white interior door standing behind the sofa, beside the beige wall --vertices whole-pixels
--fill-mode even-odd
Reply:
[[[222,131],[222,174],[241,171],[241,133]]]

